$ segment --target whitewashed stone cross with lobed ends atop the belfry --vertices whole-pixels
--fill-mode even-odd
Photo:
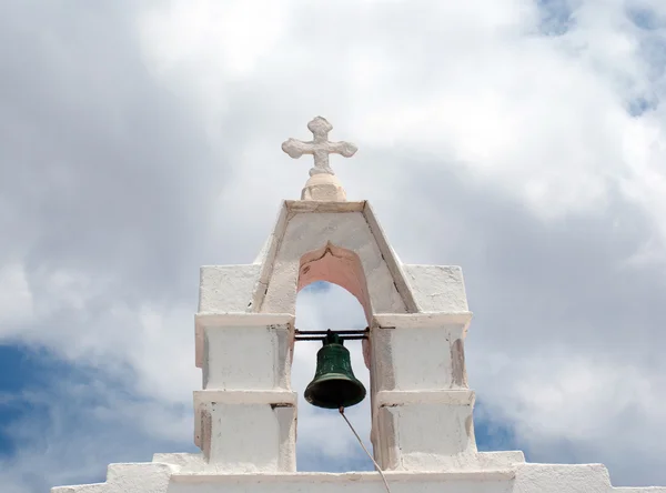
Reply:
[[[314,134],[314,139],[303,142],[296,139],[289,139],[282,143],[282,150],[290,157],[299,159],[303,154],[314,155],[314,168],[310,169],[310,175],[320,173],[335,174],[329,165],[329,154],[342,154],[351,158],[357,148],[350,142],[330,142],[329,132],[333,125],[325,118],[316,117],[310,123],[307,129]]]

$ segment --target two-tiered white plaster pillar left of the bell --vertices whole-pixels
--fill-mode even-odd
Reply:
[[[195,321],[203,390],[194,393],[194,443],[203,453],[194,469],[295,471],[294,316],[200,312]]]

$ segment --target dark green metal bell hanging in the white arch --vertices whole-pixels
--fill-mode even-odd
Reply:
[[[340,335],[329,331],[316,353],[314,379],[305,389],[305,400],[324,409],[350,408],[365,399],[365,388],[354,376],[350,351]]]

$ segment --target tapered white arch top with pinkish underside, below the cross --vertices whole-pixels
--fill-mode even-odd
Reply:
[[[331,259],[317,264],[311,276],[304,273],[300,282],[303,260],[316,261],[329,254]],[[333,272],[339,266],[351,276],[336,280]],[[285,202],[262,256],[250,310],[293,314],[299,283],[302,288],[314,282],[316,271],[329,282],[346,284],[369,316],[418,311],[402,266],[363,203]]]

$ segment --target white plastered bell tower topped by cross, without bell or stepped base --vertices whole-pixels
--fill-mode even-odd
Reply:
[[[346,201],[327,164],[329,153],[351,157],[356,148],[329,142],[332,127],[323,118],[309,128],[312,142],[283,144],[294,158],[314,154],[302,193],[307,200],[283,203],[254,264],[202,269],[196,361],[204,378],[195,394],[195,437],[209,466],[295,471],[295,302],[314,281],[345,288],[365,311],[372,442],[383,470],[523,462],[521,452],[476,451],[464,356],[472,314],[461,269],[402,264],[370,204]]]

